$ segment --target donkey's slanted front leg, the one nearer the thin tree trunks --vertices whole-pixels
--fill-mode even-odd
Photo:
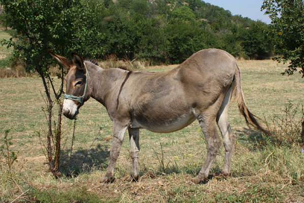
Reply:
[[[110,151],[110,162],[106,174],[104,178],[101,179],[100,183],[110,182],[113,179],[116,161],[119,156],[121,146],[123,144],[126,130],[127,125],[114,122],[112,148]]]

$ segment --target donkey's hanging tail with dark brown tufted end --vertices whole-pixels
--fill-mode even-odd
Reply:
[[[233,86],[233,94],[234,98],[237,101],[237,105],[239,107],[240,113],[245,117],[246,123],[253,125],[258,130],[262,131],[265,134],[269,134],[269,131],[265,130],[260,124],[256,121],[256,116],[253,115],[247,108],[245,104],[245,99],[243,95],[243,91],[241,88],[241,73],[239,66],[236,63],[236,70],[235,70],[235,78],[234,78],[234,86]]]

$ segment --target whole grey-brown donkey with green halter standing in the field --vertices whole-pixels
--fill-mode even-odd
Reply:
[[[129,181],[138,180],[139,129],[166,133],[180,130],[195,119],[204,133],[207,157],[194,183],[206,182],[211,165],[221,145],[216,123],[225,148],[222,175],[230,174],[235,137],[228,122],[232,95],[236,98],[247,124],[267,133],[249,112],[241,90],[240,70],[236,59],[218,49],[193,54],[166,73],[104,70],[72,53],[72,60],[50,54],[68,69],[63,114],[75,119],[80,107],[90,97],[107,110],[113,122],[109,165],[100,182],[110,182],[126,130],[130,138],[132,172]]]

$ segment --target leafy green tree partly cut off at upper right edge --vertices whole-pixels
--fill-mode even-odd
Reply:
[[[274,58],[278,62],[290,61],[283,74],[298,71],[304,77],[304,2],[302,0],[264,0],[261,10],[265,10],[272,22],[270,32],[277,37],[276,49],[282,56]]]

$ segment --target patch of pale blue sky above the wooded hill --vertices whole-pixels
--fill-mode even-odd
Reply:
[[[270,24],[271,20],[268,15],[264,15],[261,10],[263,0],[203,0],[206,3],[222,7],[229,10],[232,15],[241,15],[252,20],[261,20]]]

